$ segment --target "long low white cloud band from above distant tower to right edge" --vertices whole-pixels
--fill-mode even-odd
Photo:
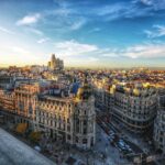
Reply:
[[[55,43],[55,52],[59,56],[87,56],[86,61],[97,62],[99,58],[160,58],[165,57],[165,44],[133,45],[125,48],[100,48],[96,45],[81,44],[74,40]],[[95,55],[95,56],[94,56]]]

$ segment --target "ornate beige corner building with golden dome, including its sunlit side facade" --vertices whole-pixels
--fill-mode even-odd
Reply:
[[[41,97],[34,125],[47,136],[90,148],[96,141],[95,99],[90,88],[81,87],[76,98]]]

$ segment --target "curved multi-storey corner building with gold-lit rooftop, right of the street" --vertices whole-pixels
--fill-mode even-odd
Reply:
[[[150,131],[156,116],[156,90],[151,86],[117,85],[112,94],[112,117],[134,133]]]

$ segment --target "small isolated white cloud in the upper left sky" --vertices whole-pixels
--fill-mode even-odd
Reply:
[[[25,15],[24,18],[22,18],[21,20],[16,22],[16,25],[30,25],[30,24],[36,23],[38,19],[41,19],[40,13],[36,13],[34,15]]]

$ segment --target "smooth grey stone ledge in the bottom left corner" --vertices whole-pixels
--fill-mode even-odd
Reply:
[[[55,165],[55,163],[0,129],[0,165]]]

